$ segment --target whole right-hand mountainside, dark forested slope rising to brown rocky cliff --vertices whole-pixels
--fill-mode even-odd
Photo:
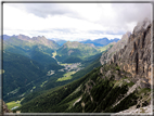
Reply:
[[[151,105],[151,25],[145,24],[136,26],[125,47],[108,62],[76,81],[23,103],[17,111],[118,113]]]

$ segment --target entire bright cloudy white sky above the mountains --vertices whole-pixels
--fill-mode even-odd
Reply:
[[[121,38],[151,18],[150,3],[3,3],[3,34],[86,40]]]

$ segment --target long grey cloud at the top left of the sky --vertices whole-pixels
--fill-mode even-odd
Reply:
[[[47,17],[48,15],[77,15],[67,4],[64,5],[63,3],[10,3],[10,5],[25,10],[39,17]]]

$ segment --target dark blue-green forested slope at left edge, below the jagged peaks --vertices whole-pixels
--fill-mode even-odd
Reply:
[[[44,76],[42,66],[23,55],[3,53],[3,100],[17,96],[37,83],[30,83]],[[42,81],[42,80],[39,80]]]

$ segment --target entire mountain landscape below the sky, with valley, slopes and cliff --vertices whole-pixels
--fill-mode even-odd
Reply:
[[[3,36],[3,101],[14,113],[151,113],[150,21],[121,39]]]

